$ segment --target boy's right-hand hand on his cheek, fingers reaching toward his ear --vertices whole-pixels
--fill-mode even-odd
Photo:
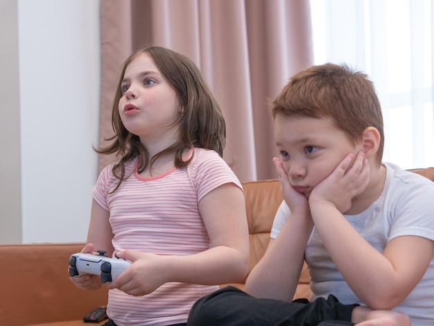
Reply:
[[[310,205],[331,204],[342,214],[351,208],[351,200],[363,193],[370,180],[370,167],[363,152],[354,159],[347,155],[336,169],[322,180],[309,197]]]

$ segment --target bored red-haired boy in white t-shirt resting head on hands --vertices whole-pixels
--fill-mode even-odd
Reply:
[[[275,216],[266,254],[245,286],[249,295],[261,299],[228,289],[225,295],[196,303],[190,316],[199,316],[200,309],[211,304],[218,306],[220,296],[232,299],[226,313],[232,319],[236,307],[249,301],[248,310],[273,320],[263,325],[277,325],[272,318],[288,315],[280,312],[281,302],[288,309],[294,306],[288,301],[305,259],[311,303],[292,307],[294,318],[284,320],[286,325],[303,325],[299,320],[305,319],[297,318],[313,315],[315,321],[306,325],[331,318],[347,323],[328,325],[372,318],[360,325],[409,323],[397,311],[410,316],[413,325],[432,325],[434,184],[382,163],[383,118],[372,82],[346,66],[311,67],[291,78],[273,101],[272,116],[281,154],[273,162],[284,203]],[[321,300],[332,293],[340,302]],[[279,304],[263,304],[270,299]],[[354,308],[354,303],[381,311],[358,315],[367,308]],[[306,308],[311,305],[315,308]],[[340,314],[348,305],[351,314]]]

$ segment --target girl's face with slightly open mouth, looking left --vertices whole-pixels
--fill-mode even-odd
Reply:
[[[121,82],[119,115],[125,128],[146,144],[179,139],[173,123],[180,115],[175,90],[166,82],[147,53],[138,55],[125,69]]]

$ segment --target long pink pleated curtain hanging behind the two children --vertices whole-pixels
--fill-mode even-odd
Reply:
[[[216,95],[238,178],[275,178],[268,101],[312,65],[310,19],[309,0],[101,1],[101,144],[121,63],[144,44],[165,46],[191,58]],[[100,169],[113,160],[101,156]]]

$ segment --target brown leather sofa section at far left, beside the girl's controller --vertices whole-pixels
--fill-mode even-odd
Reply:
[[[0,246],[0,325],[19,326],[80,320],[107,304],[107,288],[78,289],[68,275],[68,259],[84,243]]]

